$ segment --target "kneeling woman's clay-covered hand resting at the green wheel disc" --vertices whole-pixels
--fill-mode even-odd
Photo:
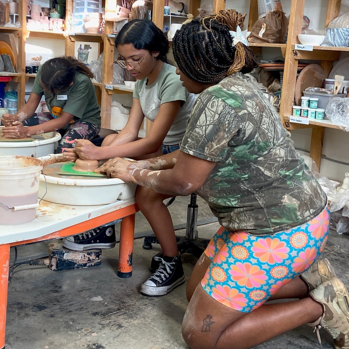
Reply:
[[[121,157],[115,157],[105,162],[101,167],[94,170],[96,173],[106,172],[109,177],[120,178],[124,182],[132,182],[132,173],[135,166],[134,161],[125,160]]]

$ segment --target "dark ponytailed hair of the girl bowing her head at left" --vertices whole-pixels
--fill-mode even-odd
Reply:
[[[64,90],[69,87],[76,72],[85,74],[89,78],[94,77],[91,70],[74,57],[55,57],[43,64],[40,80],[54,95],[54,90]]]

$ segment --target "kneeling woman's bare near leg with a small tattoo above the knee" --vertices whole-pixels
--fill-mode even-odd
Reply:
[[[198,285],[184,315],[182,335],[191,349],[247,349],[313,322],[322,313],[322,305],[311,298],[263,304],[243,313],[217,302]]]

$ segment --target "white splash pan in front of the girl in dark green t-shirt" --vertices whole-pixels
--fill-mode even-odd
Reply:
[[[0,156],[23,155],[40,157],[53,154],[54,143],[61,139],[61,135],[58,132],[47,132],[39,134],[38,136],[44,137],[45,139],[31,142],[0,142]]]

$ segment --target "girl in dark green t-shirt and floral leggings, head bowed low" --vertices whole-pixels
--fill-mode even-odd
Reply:
[[[16,115],[2,116],[2,135],[23,138],[58,130],[63,136],[57,153],[73,148],[76,139],[94,138],[101,129],[101,108],[92,77],[73,57],[49,59],[39,66],[28,102]],[[43,95],[50,112],[35,114]]]

